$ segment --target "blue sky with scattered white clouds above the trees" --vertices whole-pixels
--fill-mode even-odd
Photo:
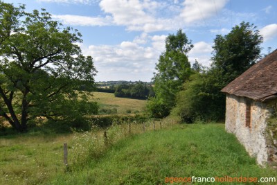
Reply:
[[[262,54],[277,49],[277,0],[3,0],[45,8],[82,33],[78,43],[98,70],[95,80],[150,82],[165,39],[181,28],[194,44],[188,60],[208,67],[213,40],[242,21],[264,37]],[[269,49],[269,47],[271,49]]]

